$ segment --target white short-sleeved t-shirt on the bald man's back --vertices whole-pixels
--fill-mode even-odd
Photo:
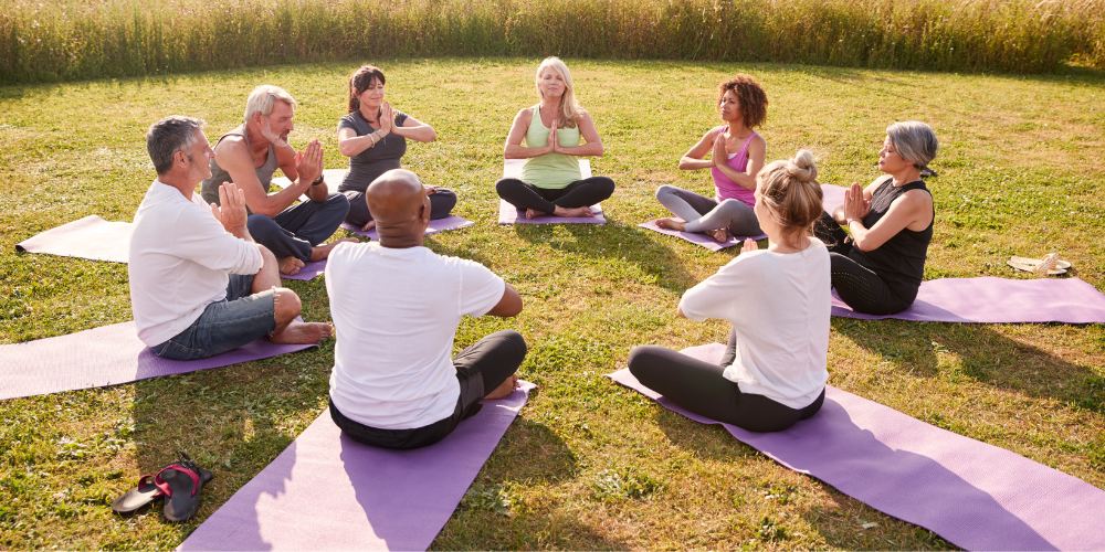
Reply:
[[[505,283],[483,265],[427,247],[345,244],[332,253],[326,290],[338,342],[330,399],[380,428],[411,428],[453,412],[453,336],[482,316]],[[490,391],[490,390],[488,390]]]

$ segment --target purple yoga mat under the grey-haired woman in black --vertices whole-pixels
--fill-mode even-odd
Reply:
[[[1078,278],[941,278],[920,284],[917,299],[902,312],[863,315],[833,291],[833,316],[920,322],[1105,322],[1105,295]]]

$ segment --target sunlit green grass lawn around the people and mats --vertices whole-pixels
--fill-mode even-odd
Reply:
[[[687,287],[736,251],[709,253],[635,225],[663,214],[662,183],[706,192],[676,161],[717,123],[715,86],[754,74],[770,99],[768,159],[799,147],[822,181],[870,181],[888,123],[940,137],[929,181],[927,278],[1013,274],[1010,255],[1060,252],[1105,289],[1105,76],[988,77],[779,65],[569,60],[618,183],[606,226],[498,226],[493,183],[514,114],[535,102],[536,60],[382,62],[392,104],[433,125],[407,167],[460,194],[476,225],[435,235],[522,293],[512,320],[465,320],[457,348],[525,335],[539,385],[434,542],[438,549],[844,548],[949,543],[780,467],[717,426],[672,414],[602,375],[640,343],[724,340],[722,322],[675,317]],[[214,140],[256,84],[299,100],[292,141],[319,138],[327,167],[355,63],[167,79],[0,88],[0,342],[130,318],[126,266],[13,245],[88,214],[130,220],[154,178],[144,135],[170,114]],[[322,279],[291,283],[305,317],[328,318]],[[221,370],[0,402],[0,548],[172,548],[326,404],[333,343]],[[1105,487],[1105,327],[833,319],[830,382],[919,420]],[[2,370],[2,368],[0,368]],[[188,452],[215,473],[194,521],[110,512],[114,497]],[[325,512],[319,512],[325,514]],[[307,522],[307,521],[305,521]],[[867,522],[875,527],[864,529]]]

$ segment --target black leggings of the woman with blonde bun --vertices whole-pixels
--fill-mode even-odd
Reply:
[[[711,364],[663,347],[635,347],[629,353],[629,371],[646,388],[675,404],[750,432],[782,431],[821,410],[824,390],[801,410],[764,395],[743,393],[736,382],[722,375],[725,367],[736,357],[736,336],[730,333],[720,364]]]

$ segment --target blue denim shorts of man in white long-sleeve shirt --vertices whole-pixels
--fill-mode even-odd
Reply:
[[[227,298],[208,305],[180,333],[151,347],[158,357],[194,360],[238,349],[276,328],[276,295],[272,289],[251,295],[253,275],[231,274]]]

